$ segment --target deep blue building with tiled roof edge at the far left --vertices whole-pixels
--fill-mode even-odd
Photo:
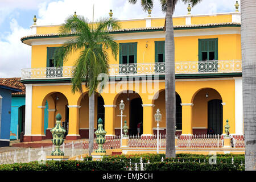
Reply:
[[[10,144],[11,94],[22,90],[0,78],[0,147]]]

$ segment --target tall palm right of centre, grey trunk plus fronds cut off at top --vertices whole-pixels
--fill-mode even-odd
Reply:
[[[137,3],[137,0],[128,0],[130,3]],[[174,14],[175,5],[179,0],[159,0],[162,5],[162,11],[166,13],[166,30],[165,40],[165,61],[166,61],[166,157],[173,158],[176,156],[175,151],[175,64],[174,64],[174,24],[172,15]],[[191,7],[195,6],[201,0],[181,0],[184,3],[190,3]],[[141,0],[144,11],[151,10],[153,0]]]

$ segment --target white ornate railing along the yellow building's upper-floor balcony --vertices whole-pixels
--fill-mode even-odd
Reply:
[[[21,80],[71,78],[73,67],[25,68]],[[109,76],[164,75],[165,63],[110,64]],[[175,74],[242,73],[242,60],[176,61]]]

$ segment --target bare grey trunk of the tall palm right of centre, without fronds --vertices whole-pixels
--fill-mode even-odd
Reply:
[[[166,157],[175,157],[175,64],[173,0],[167,0],[166,10]]]

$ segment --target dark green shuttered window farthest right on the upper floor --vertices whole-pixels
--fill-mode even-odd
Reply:
[[[199,61],[218,60],[218,39],[199,39]]]

